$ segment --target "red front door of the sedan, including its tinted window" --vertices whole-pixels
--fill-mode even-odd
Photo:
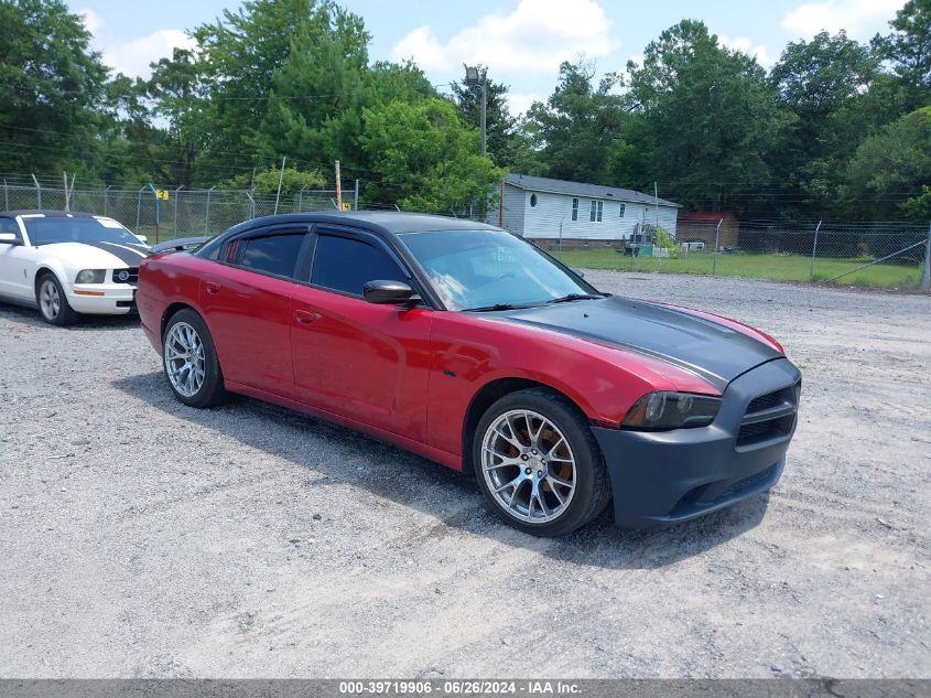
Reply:
[[[292,291],[296,398],[425,441],[435,311],[362,300],[367,281],[414,286],[397,255],[376,236],[324,228],[313,248],[305,282]]]

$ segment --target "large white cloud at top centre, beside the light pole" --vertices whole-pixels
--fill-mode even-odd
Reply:
[[[617,47],[610,29],[595,0],[521,0],[510,14],[486,14],[446,42],[431,26],[419,26],[394,45],[391,57],[412,57],[421,68],[436,73],[481,63],[496,73],[552,74],[580,54],[610,54]]]

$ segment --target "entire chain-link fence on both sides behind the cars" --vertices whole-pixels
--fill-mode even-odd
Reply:
[[[4,211],[66,207],[63,185],[15,184],[3,181]],[[166,198],[156,197],[161,192]],[[359,206],[358,182],[343,186],[344,207]],[[273,213],[335,211],[335,189],[302,190],[295,194],[260,197],[252,191],[108,186],[68,192],[72,211],[116,218],[150,243],[196,235],[213,235],[250,218]],[[367,208],[397,210],[394,204],[365,204]],[[533,240],[573,267],[664,273],[700,273],[818,281],[875,288],[931,286],[927,258],[931,256],[931,224],[798,223],[680,221],[674,237],[654,226],[638,226],[624,239]]]

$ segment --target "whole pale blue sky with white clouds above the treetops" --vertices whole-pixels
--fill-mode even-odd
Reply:
[[[446,90],[463,63],[488,66],[489,79],[510,86],[510,107],[524,111],[553,90],[559,65],[584,56],[598,73],[624,69],[643,47],[682,19],[699,19],[721,42],[769,67],[788,41],[845,29],[854,39],[886,33],[905,0],[343,0],[372,35],[370,58],[413,58]],[[68,0],[94,34],[104,61],[127,75],[191,46],[185,30],[213,21],[237,0]]]

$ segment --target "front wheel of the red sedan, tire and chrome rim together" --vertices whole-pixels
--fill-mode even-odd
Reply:
[[[488,408],[473,437],[473,463],[495,514],[534,536],[571,533],[610,498],[584,416],[543,388],[512,393]]]

